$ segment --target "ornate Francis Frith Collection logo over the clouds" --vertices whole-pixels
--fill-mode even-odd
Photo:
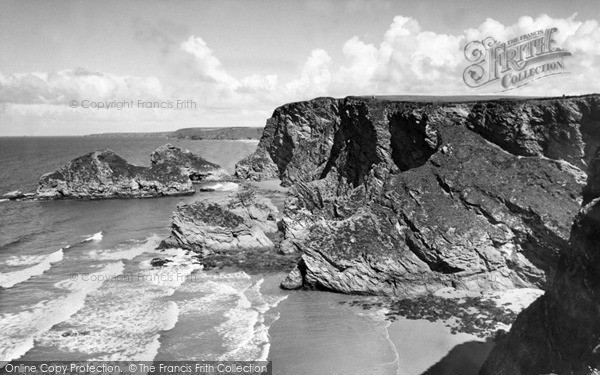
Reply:
[[[465,57],[473,64],[463,72],[469,87],[501,85],[508,91],[536,79],[568,73],[563,59],[571,52],[556,46],[552,35],[557,28],[538,30],[500,43],[492,37],[473,41],[465,47]]]

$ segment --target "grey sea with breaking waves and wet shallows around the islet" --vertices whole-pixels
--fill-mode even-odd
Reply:
[[[230,172],[257,145],[160,137],[0,138],[0,194],[33,192],[43,173],[99,149],[148,166],[151,152],[165,143]],[[0,365],[17,359],[270,360],[274,374],[421,374],[457,345],[476,342],[451,336],[439,324],[391,326],[385,311],[345,303],[356,296],[281,290],[283,273],[208,271],[182,249],[156,250],[179,202],[227,194],[1,201]],[[156,257],[172,262],[153,267]],[[423,343],[427,332],[434,342]]]

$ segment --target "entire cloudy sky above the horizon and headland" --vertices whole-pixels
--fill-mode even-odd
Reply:
[[[549,27],[570,74],[510,95],[600,92],[598,20],[597,0],[0,0],[0,136],[263,126],[318,96],[491,94],[463,82],[466,44]],[[139,103],[177,100],[195,108]]]

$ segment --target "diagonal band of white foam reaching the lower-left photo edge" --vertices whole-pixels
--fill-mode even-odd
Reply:
[[[113,263],[89,276],[94,278],[107,273],[122,273],[123,267],[121,262]],[[19,313],[0,315],[0,341],[2,341],[0,358],[2,360],[12,361],[23,356],[33,347],[34,340],[83,308],[86,297],[100,288],[102,282],[77,278],[61,282],[61,286],[69,291],[67,295],[38,302]]]

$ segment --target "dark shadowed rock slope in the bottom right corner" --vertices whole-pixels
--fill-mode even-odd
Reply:
[[[595,159],[592,166],[598,162]],[[595,169],[595,168],[594,168]],[[575,217],[551,288],[499,340],[482,375],[600,372],[600,187]]]

